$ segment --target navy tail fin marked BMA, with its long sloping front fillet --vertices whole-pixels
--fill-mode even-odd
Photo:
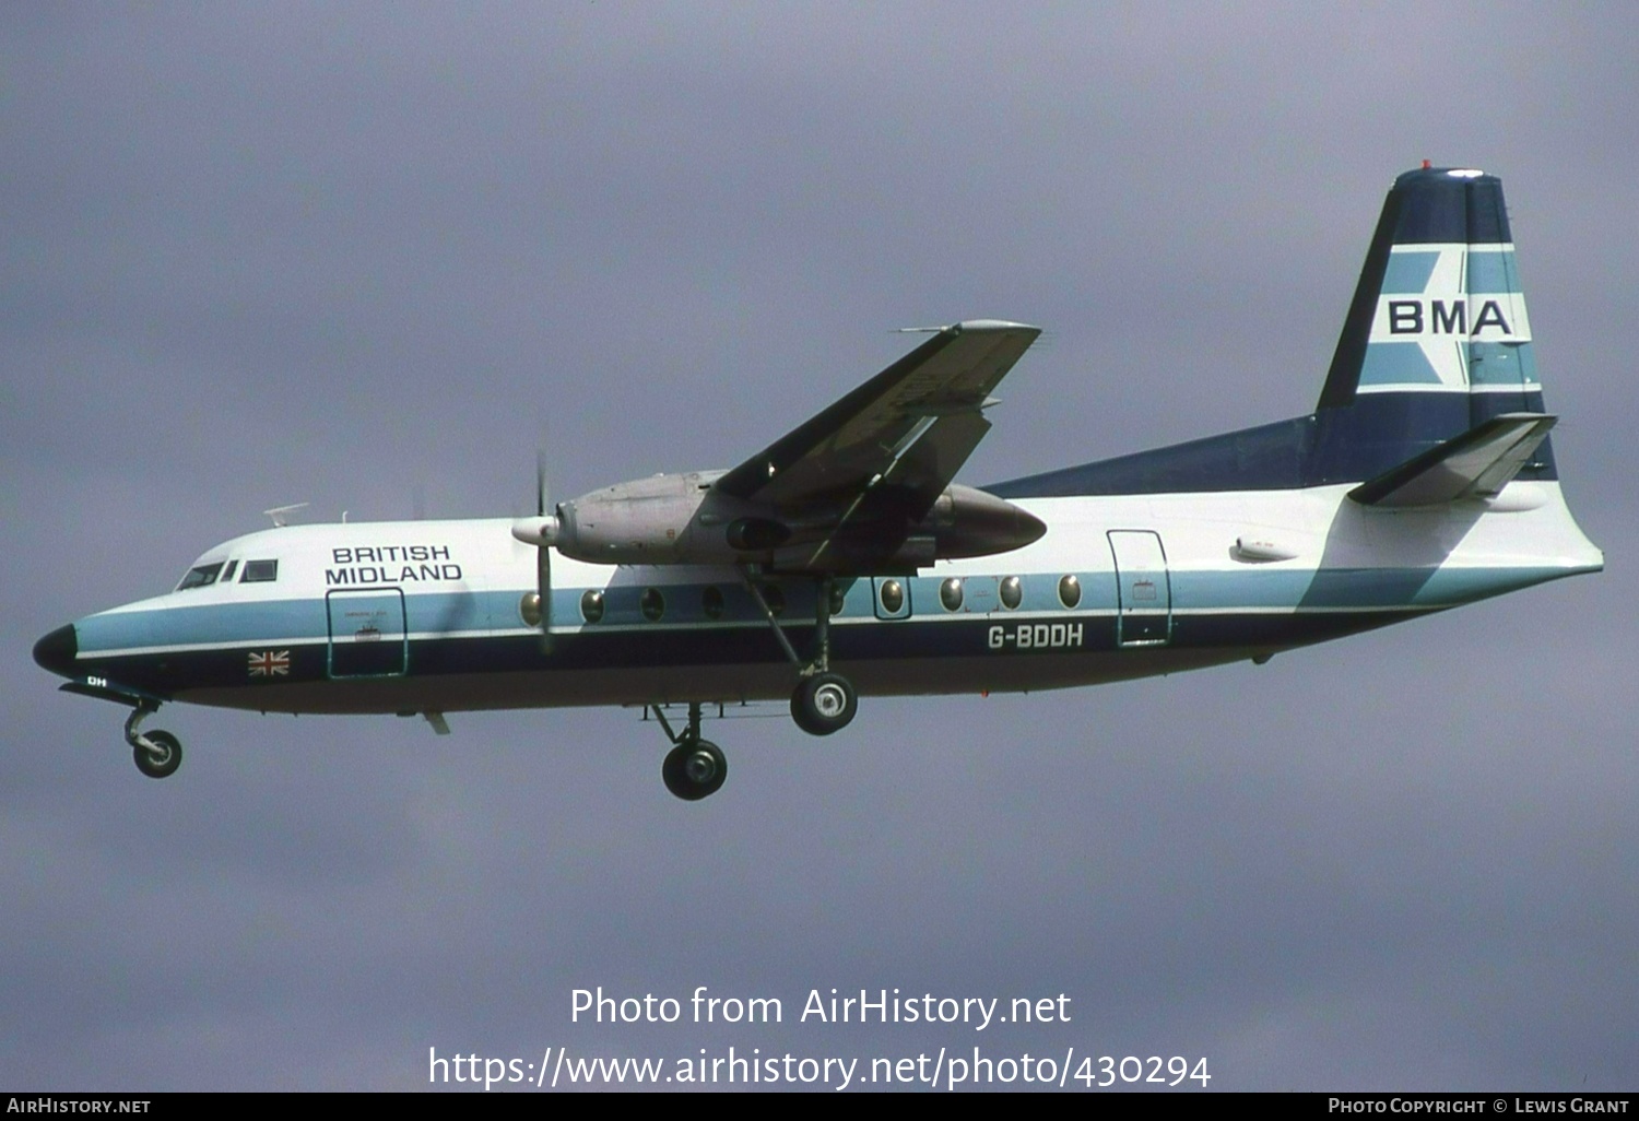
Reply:
[[[1364,483],[1370,505],[1555,480],[1503,184],[1395,180],[1310,416],[987,487],[1000,498]]]

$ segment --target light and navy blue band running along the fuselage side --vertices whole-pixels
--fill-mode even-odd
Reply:
[[[1555,569],[1323,569],[1170,574],[1172,611],[1160,634],[1174,651],[1283,649],[1383,626],[1431,610],[1455,606],[1562,575]],[[969,577],[982,588],[995,577]],[[946,611],[939,580],[906,579],[913,611],[903,621],[877,620],[870,582],[851,588],[833,626],[833,659],[1010,657],[1057,652],[1110,652],[1121,646],[1113,574],[1082,575],[1082,601],[1057,601],[1057,575],[1021,577],[1018,610]],[[449,674],[659,669],[688,665],[777,664],[782,652],[767,623],[749,610],[706,620],[701,590],[672,585],[665,620],[583,624],[570,616],[579,590],[559,590],[561,629],[551,651],[516,616],[518,593],[421,593],[405,597],[410,639],[393,675],[429,678]],[[793,608],[801,585],[792,587]],[[993,605],[995,600],[990,600]],[[693,605],[693,610],[690,610]],[[811,606],[811,600],[810,600]],[[282,685],[325,682],[334,664],[325,600],[218,603],[143,611],[113,611],[82,620],[79,667],[164,697],[192,690],[247,688],[269,708]],[[454,626],[452,626],[454,624]],[[783,621],[798,649],[813,642],[811,616]],[[339,647],[338,647],[339,649]]]

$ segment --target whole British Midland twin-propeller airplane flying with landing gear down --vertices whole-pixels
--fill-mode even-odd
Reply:
[[[1388,192],[1313,413],[1015,479],[954,482],[1036,341],[967,320],[729,470],[472,521],[282,524],[161,597],[57,628],[34,660],[129,706],[421,715],[626,705],[683,800],[716,710],[788,698],[815,736],[860,695],[1024,692],[1267,662],[1567,575],[1603,552],[1549,442],[1495,175]],[[549,510],[551,505],[551,510]],[[674,708],[675,706],[675,708]],[[674,716],[687,716],[674,728]]]

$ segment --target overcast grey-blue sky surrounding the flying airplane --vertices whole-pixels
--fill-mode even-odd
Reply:
[[[0,1087],[982,1046],[1636,1088],[1634,43],[1621,3],[0,8]],[[267,506],[521,513],[543,446],[559,495],[728,467],[906,324],[1047,331],[970,483],[1306,413],[1424,157],[1503,177],[1603,575],[1265,667],[724,723],[698,805],[624,710],[177,706],[156,783],[30,659]],[[570,1023],[598,985],[785,1023]],[[833,987],[1072,1019],[798,1023]]]

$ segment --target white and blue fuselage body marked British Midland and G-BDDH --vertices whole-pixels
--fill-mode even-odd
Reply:
[[[1034,544],[839,580],[833,662],[865,695],[1090,685],[1265,657],[1603,565],[1557,482],[1428,510],[1360,506],[1347,490],[1021,498],[1047,524]],[[510,526],[236,538],[197,562],[233,565],[236,579],[80,620],[79,664],[167,698],[290,713],[790,693],[797,670],[731,565],[554,557],[543,649],[523,610],[536,551]],[[266,560],[277,579],[238,579]],[[757,582],[777,588],[780,623],[806,654],[815,583]]]

